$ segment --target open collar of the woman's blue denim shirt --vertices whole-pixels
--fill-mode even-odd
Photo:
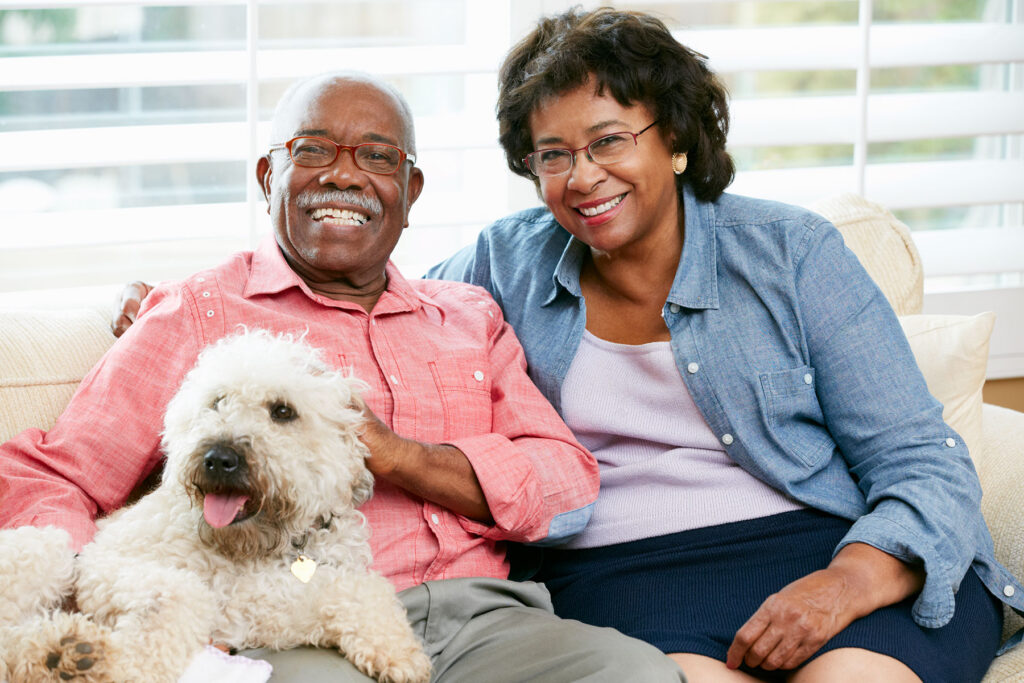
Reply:
[[[683,254],[668,301],[686,308],[718,308],[715,205],[698,201],[687,184],[683,186],[683,209],[686,216]],[[583,242],[569,237],[551,278],[551,293],[542,305],[547,306],[555,300],[559,287],[577,298],[583,296],[580,270],[587,249]]]

